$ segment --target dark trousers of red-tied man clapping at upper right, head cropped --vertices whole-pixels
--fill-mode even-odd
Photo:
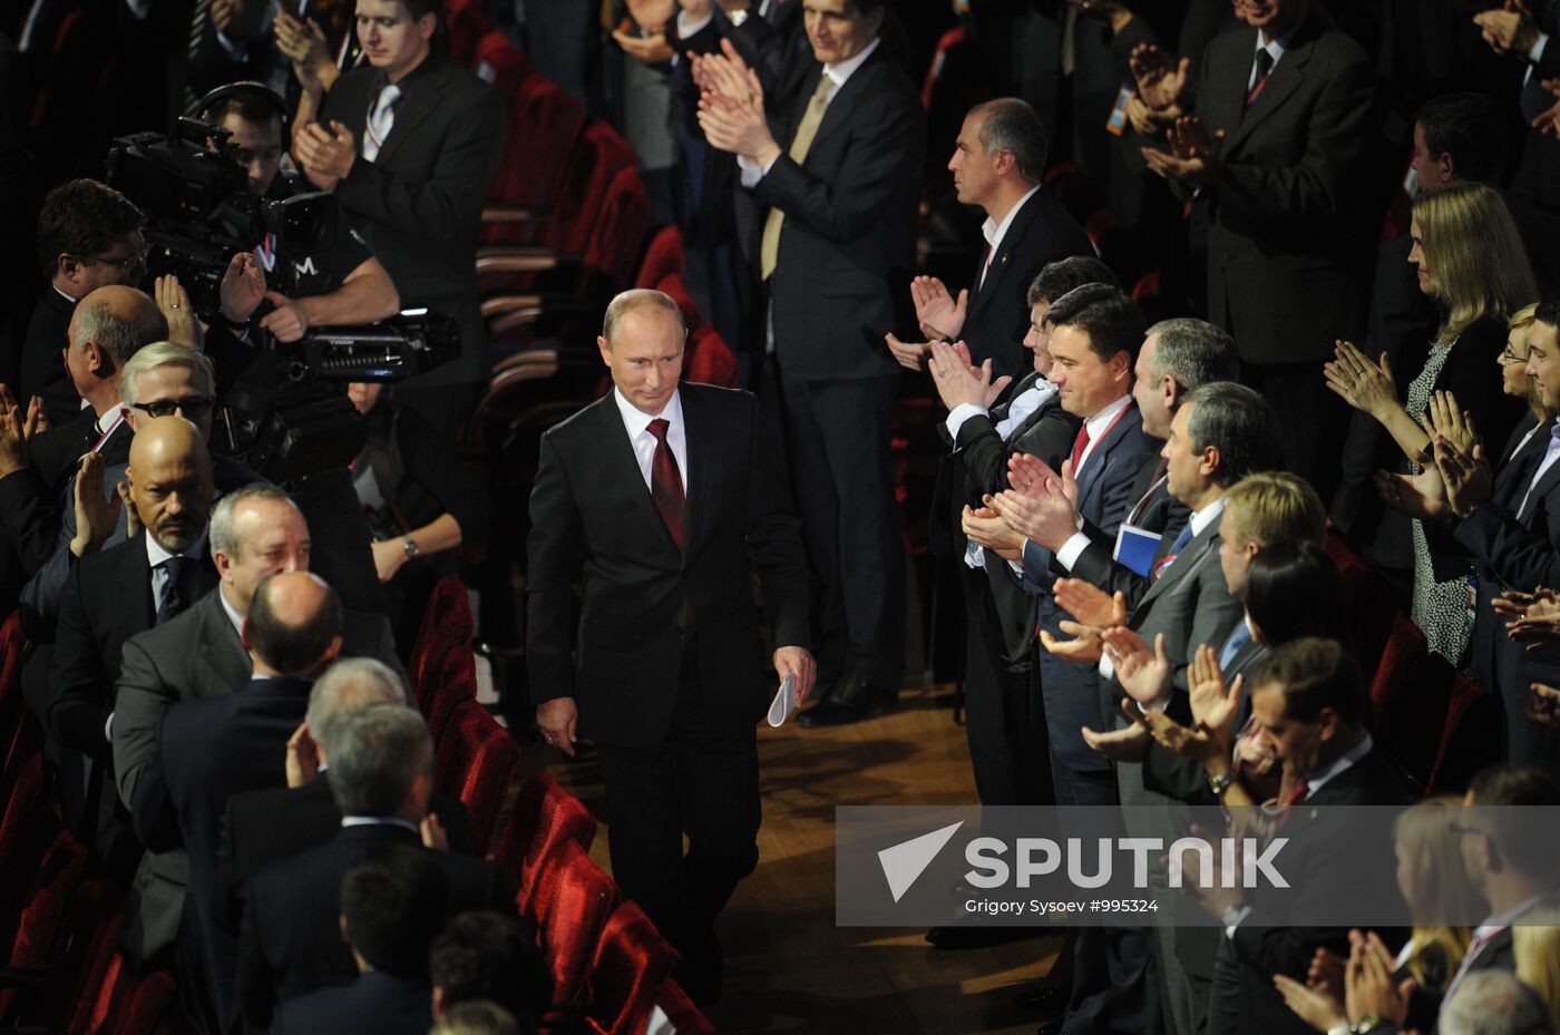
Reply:
[[[1242,380],[1278,412],[1284,468],[1310,482],[1321,499],[1338,485],[1338,455],[1349,410],[1328,388],[1321,360],[1312,363],[1243,363]]]

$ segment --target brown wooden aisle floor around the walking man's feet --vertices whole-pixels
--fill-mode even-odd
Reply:
[[[760,726],[760,862],[721,917],[725,991],[708,1010],[722,1035],[1033,1035],[1048,1019],[1012,994],[1050,970],[1058,938],[939,952],[920,929],[835,926],[835,806],[975,801],[964,728],[939,689],[906,689],[897,712],[853,726]],[[604,815],[591,754],[527,762]],[[608,871],[610,837],[602,823],[591,848]]]

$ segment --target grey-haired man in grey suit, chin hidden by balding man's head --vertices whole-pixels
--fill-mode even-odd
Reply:
[[[137,962],[172,948],[184,907],[189,859],[156,764],[164,714],[178,701],[232,694],[251,673],[242,630],[254,588],[275,572],[309,570],[309,525],[279,488],[254,485],[217,503],[209,550],[220,585],[200,602],[125,642],[112,720],[114,776],[136,832],[151,850],[129,893],[123,949]],[[378,614],[342,616],[342,655],[370,656],[401,672],[390,623]]]

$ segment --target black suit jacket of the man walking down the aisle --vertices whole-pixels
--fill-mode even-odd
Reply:
[[[711,722],[741,729],[768,686],[749,564],[758,569],[775,645],[807,645],[807,561],[785,510],[758,407],[741,391],[685,383],[688,493],[679,552],[651,502],[616,394],[541,436],[526,544],[526,664],[537,701],[576,697],[580,733],[651,747],[671,726],[693,609],[699,680],[721,687]],[[649,419],[649,418],[646,418]],[[574,644],[574,585],[585,577]]]

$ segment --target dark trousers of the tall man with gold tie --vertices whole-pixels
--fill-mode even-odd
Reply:
[[[899,691],[905,676],[905,547],[889,452],[897,394],[897,377],[783,373],[764,393],[782,410],[813,567],[819,684],[855,676]]]

